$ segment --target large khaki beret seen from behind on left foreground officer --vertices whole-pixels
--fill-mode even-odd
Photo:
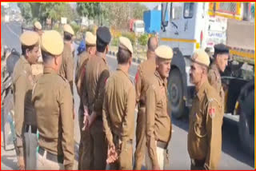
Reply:
[[[52,55],[62,54],[64,43],[61,34],[55,30],[45,31],[41,38],[41,48]]]

